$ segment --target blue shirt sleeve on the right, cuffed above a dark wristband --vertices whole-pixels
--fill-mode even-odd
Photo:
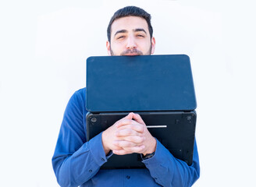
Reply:
[[[194,143],[193,163],[188,166],[186,162],[173,157],[172,154],[157,140],[155,155],[143,161],[151,177],[162,186],[191,186],[200,175],[197,143]]]

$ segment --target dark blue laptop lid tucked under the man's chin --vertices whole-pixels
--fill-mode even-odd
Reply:
[[[193,111],[187,55],[87,58],[88,111]]]

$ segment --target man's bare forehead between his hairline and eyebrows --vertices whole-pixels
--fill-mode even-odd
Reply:
[[[144,29],[148,34],[148,23],[146,19],[138,16],[126,16],[116,19],[111,26],[111,34],[115,34],[118,30],[132,31],[135,29]]]

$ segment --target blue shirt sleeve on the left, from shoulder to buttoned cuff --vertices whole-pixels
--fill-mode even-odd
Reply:
[[[78,186],[87,182],[107,161],[101,143],[101,133],[86,142],[87,111],[83,104],[84,96],[81,91],[77,91],[66,107],[52,157],[52,166],[61,186]]]

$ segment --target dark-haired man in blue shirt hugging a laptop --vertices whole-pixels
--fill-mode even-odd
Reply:
[[[108,25],[109,55],[151,55],[155,51],[151,16],[143,9],[119,9]],[[85,88],[70,98],[52,158],[61,186],[191,186],[199,178],[197,146],[188,166],[169,153],[130,113],[86,142]],[[145,169],[101,170],[112,154],[141,153]]]

